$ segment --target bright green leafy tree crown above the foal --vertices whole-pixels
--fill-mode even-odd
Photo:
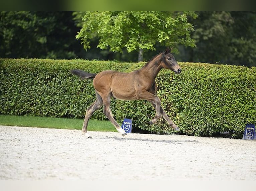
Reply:
[[[90,48],[90,40],[98,38],[98,48],[130,53],[155,50],[156,43],[162,46],[195,46],[190,32],[193,25],[188,17],[196,18],[192,11],[86,11],[82,29],[76,36],[84,48]]]

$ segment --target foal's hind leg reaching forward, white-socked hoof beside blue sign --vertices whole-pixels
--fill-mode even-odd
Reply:
[[[103,99],[103,112],[108,117],[110,122],[116,127],[116,130],[120,132],[122,135],[127,135],[126,132],[122,129],[122,127],[116,122],[114,119],[111,109],[110,109],[110,98],[111,95],[102,96]]]

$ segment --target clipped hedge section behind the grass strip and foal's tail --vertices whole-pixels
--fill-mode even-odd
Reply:
[[[126,70],[131,64],[86,60],[0,59],[0,114],[84,117],[95,100],[92,80],[70,74]],[[113,101],[115,107],[115,100]],[[102,110],[93,118],[106,119]]]

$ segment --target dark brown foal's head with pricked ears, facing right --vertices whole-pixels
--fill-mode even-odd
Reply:
[[[166,68],[166,69],[169,69],[169,70],[175,72],[176,74],[181,73],[181,69],[180,69],[177,61],[175,60],[174,56],[170,53],[169,48],[166,48],[165,52],[162,53],[160,65],[163,68]]]

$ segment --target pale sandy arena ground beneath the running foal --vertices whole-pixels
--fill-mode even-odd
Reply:
[[[0,126],[0,180],[256,180],[256,141]]]

